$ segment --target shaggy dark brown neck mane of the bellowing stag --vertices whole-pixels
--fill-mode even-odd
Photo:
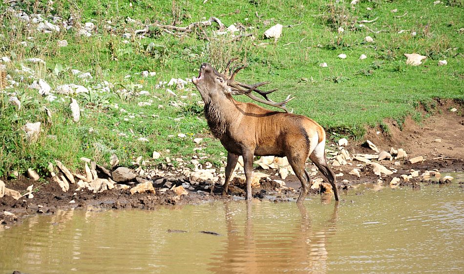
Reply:
[[[204,111],[206,121],[214,137],[221,139],[229,127],[238,120],[240,112],[231,95],[221,100],[209,100],[205,103]]]

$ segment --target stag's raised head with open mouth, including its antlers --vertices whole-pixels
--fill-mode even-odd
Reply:
[[[277,89],[271,89],[268,91],[262,91],[258,89],[258,87],[269,84],[269,82],[261,82],[257,84],[244,84],[235,81],[235,76],[237,73],[247,67],[246,64],[237,64],[230,68],[231,64],[235,59],[229,61],[224,70],[224,73],[219,73],[215,70],[209,63],[203,63],[200,66],[200,73],[198,78],[193,77],[192,83],[195,84],[198,91],[200,91],[201,97],[205,103],[208,103],[212,98],[216,96],[227,96],[228,94],[231,95],[242,95],[245,94],[251,99],[256,102],[263,103],[265,105],[271,105],[275,107],[279,107],[286,112],[290,112],[286,104],[294,99],[295,97],[290,98],[290,95],[282,102],[274,102],[268,98],[268,94],[271,92],[276,91]],[[232,73],[231,73],[232,72]],[[230,76],[227,76],[230,74]],[[260,99],[252,94],[252,92],[256,92],[264,97],[265,100]]]

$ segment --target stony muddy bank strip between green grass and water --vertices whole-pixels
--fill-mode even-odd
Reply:
[[[407,119],[402,131],[390,123],[389,137],[374,128],[367,134],[369,142],[341,139],[337,144],[329,143],[327,158],[337,174],[339,190],[349,190],[360,183],[391,188],[448,183],[452,178],[441,173],[464,170],[464,118],[449,111],[446,102],[441,109],[440,114],[428,118],[422,125]],[[240,163],[234,173],[231,195],[222,196],[224,168],[216,170],[209,164],[203,167],[195,158],[177,159],[185,163],[178,167],[168,159],[166,165],[159,168],[141,163],[137,169],[118,167],[114,158],[111,171],[89,159],[83,161],[89,162],[85,163],[85,171],[74,174],[59,161],[50,164],[51,178],[46,181],[35,181],[33,172],[29,173],[30,178],[3,178],[4,183],[0,181],[0,194],[4,195],[0,198],[1,223],[11,225],[22,216],[52,214],[58,209],[93,206],[150,210],[160,205],[194,204],[244,194]],[[186,162],[195,168],[189,168]],[[254,197],[276,202],[295,200],[300,183],[285,158],[261,157],[255,163],[258,167],[253,172]],[[333,193],[324,182],[325,178],[310,163],[308,170],[313,177],[308,195],[325,194],[331,198]]]

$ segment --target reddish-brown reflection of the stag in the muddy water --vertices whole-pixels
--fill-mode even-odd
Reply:
[[[297,204],[301,216],[299,225],[292,226],[293,229],[290,231],[284,230],[282,226],[281,232],[275,232],[278,228],[273,224],[264,225],[264,229],[268,230],[264,231],[263,224],[258,224],[256,216],[253,216],[251,201],[245,203],[247,212],[244,226],[241,225],[241,220],[238,220],[239,217],[235,217],[233,203],[224,203],[227,240],[224,249],[214,254],[216,260],[210,264],[211,272],[217,274],[328,272],[328,239],[336,232],[338,202],[335,203],[330,218],[314,226],[304,205]],[[261,203],[256,203],[254,206],[260,205]],[[292,220],[292,223],[295,221]],[[242,228],[243,233],[240,232]]]

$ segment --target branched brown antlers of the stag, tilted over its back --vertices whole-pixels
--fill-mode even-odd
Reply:
[[[228,64],[227,64],[227,67],[226,67],[226,71],[229,69],[231,63],[233,61],[235,61],[236,58],[232,59]],[[247,64],[244,64],[244,63],[240,63],[240,64],[236,64],[234,65],[230,71],[233,71],[232,75],[229,77],[229,80],[228,80],[228,84],[229,86],[233,87],[234,89],[236,89],[238,92],[237,93],[234,93],[234,95],[238,95],[238,94],[245,94],[247,95],[248,97],[250,97],[251,99],[253,99],[254,101],[256,102],[259,102],[259,103],[262,103],[262,104],[265,104],[265,105],[271,105],[271,106],[275,106],[275,107],[278,107],[278,108],[281,108],[283,110],[285,110],[285,112],[290,112],[288,109],[287,109],[287,106],[286,104],[288,102],[290,102],[291,100],[293,100],[295,97],[292,97],[289,95],[287,96],[287,99],[285,99],[284,101],[282,102],[274,102],[273,100],[269,99],[268,98],[268,94],[274,92],[277,90],[277,88],[275,89],[270,89],[268,91],[262,91],[260,89],[258,89],[258,87],[262,86],[262,85],[265,85],[265,84],[269,84],[269,82],[261,82],[261,83],[257,83],[257,84],[253,84],[253,85],[249,85],[249,84],[244,84],[244,83],[240,83],[240,82],[237,82],[235,81],[235,76],[237,75],[237,73],[241,70],[241,69],[244,69],[245,67],[247,67]],[[226,73],[226,71],[224,71],[224,73]],[[230,72],[229,71],[229,72]],[[258,93],[259,95],[263,96],[264,99],[266,100],[263,100],[263,99],[260,99],[256,96],[254,96],[252,94],[252,91]]]

